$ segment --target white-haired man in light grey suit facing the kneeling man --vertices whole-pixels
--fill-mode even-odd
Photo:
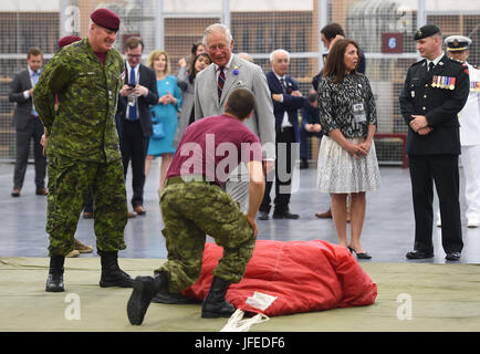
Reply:
[[[212,64],[201,71],[195,82],[195,119],[221,115],[225,103],[234,88],[249,88],[255,95],[252,117],[244,124],[258,135],[262,144],[264,170],[274,168],[275,117],[267,77],[259,65],[232,53],[233,38],[220,23],[209,25],[204,32],[204,43]],[[247,211],[249,176],[244,166],[230,174],[226,191]]]

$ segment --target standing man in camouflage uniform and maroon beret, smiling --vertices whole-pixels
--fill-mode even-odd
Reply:
[[[125,249],[127,202],[115,112],[123,85],[122,55],[112,48],[118,17],[92,13],[88,38],[63,48],[46,64],[34,90],[34,103],[45,126],[49,158],[46,232],[50,271],[46,291],[64,291],[64,256],[74,235],[85,197],[93,191],[96,247],[102,261],[101,287],[132,287],[118,268]],[[55,112],[55,94],[59,107]]]

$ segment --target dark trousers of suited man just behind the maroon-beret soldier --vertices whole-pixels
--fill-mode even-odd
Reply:
[[[144,204],[145,158],[148,150],[148,137],[144,136],[139,119],[124,119],[122,124],[122,162],[126,178],[128,163],[132,160],[132,206]]]

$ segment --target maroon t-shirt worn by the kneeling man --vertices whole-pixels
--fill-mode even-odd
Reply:
[[[205,117],[185,131],[167,178],[202,175],[221,185],[240,162],[251,160],[262,162],[262,146],[252,131],[232,116]]]

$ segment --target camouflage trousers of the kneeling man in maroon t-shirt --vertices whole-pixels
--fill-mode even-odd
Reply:
[[[206,181],[179,183],[179,178],[169,178],[160,194],[168,260],[155,272],[168,273],[169,292],[192,285],[201,273],[208,235],[223,247],[223,257],[213,275],[231,283],[240,282],[255,240],[238,202],[217,186]]]

